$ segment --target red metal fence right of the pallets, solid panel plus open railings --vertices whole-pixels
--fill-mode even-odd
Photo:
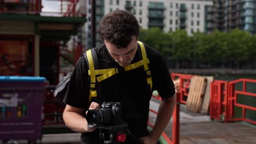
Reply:
[[[211,119],[219,122],[245,121],[256,124],[256,120],[248,118],[247,111],[256,112],[255,105],[241,104],[238,97],[245,99],[252,97],[255,101],[256,93],[249,92],[247,85],[256,85],[253,79],[238,79],[233,81],[214,81],[211,83]],[[237,85],[242,85],[238,88]],[[254,102],[255,104],[255,102]],[[242,109],[241,117],[235,116],[235,107]]]

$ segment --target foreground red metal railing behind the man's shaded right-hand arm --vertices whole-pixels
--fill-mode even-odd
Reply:
[[[165,140],[168,143],[171,143],[171,144],[179,144],[179,104],[180,104],[179,95],[180,95],[179,92],[176,93],[176,97],[177,97],[176,105],[174,107],[174,111],[173,111],[173,114],[172,114],[172,119],[173,119],[173,122],[172,122],[172,140],[170,140],[165,133],[162,133],[162,136],[165,138]],[[153,98],[159,100],[159,95],[158,95],[158,97],[154,96]],[[149,111],[151,111],[155,114],[158,113],[157,111],[152,110],[152,109],[149,109]],[[150,123],[149,121],[148,121],[148,125],[152,128],[154,127],[154,124]]]

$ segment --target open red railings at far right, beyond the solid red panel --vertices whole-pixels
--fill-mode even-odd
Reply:
[[[242,82],[242,86],[243,86],[242,91],[238,91],[237,89],[235,89],[235,85],[240,82]],[[230,81],[228,83],[228,89],[229,89],[228,105],[229,106],[228,106],[228,115],[225,117],[228,122],[246,121],[246,122],[249,122],[252,124],[256,124],[256,121],[252,121],[251,119],[246,118],[246,110],[256,111],[256,107],[237,103],[237,95],[238,94],[248,96],[248,97],[256,97],[256,93],[247,92],[247,89],[246,89],[247,82],[256,83],[256,80],[238,79],[238,80]],[[235,106],[242,108],[242,117],[241,118],[234,118],[234,107]]]

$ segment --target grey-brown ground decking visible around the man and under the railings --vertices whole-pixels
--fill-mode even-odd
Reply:
[[[150,108],[158,110],[159,101],[150,101]],[[149,113],[149,121],[154,123],[155,114]],[[218,123],[212,122],[210,116],[188,112],[181,105],[180,112],[180,143],[256,143],[256,127],[243,123]],[[172,120],[168,124],[165,133],[171,138]],[[44,134],[42,140],[37,143],[51,144],[75,144],[79,143],[80,134]],[[16,140],[13,143],[27,143],[26,140]],[[0,142],[1,143],[1,142]]]

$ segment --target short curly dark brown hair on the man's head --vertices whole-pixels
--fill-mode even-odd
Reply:
[[[99,33],[102,40],[107,40],[120,48],[127,47],[133,35],[138,38],[139,24],[129,11],[115,10],[102,18]]]

